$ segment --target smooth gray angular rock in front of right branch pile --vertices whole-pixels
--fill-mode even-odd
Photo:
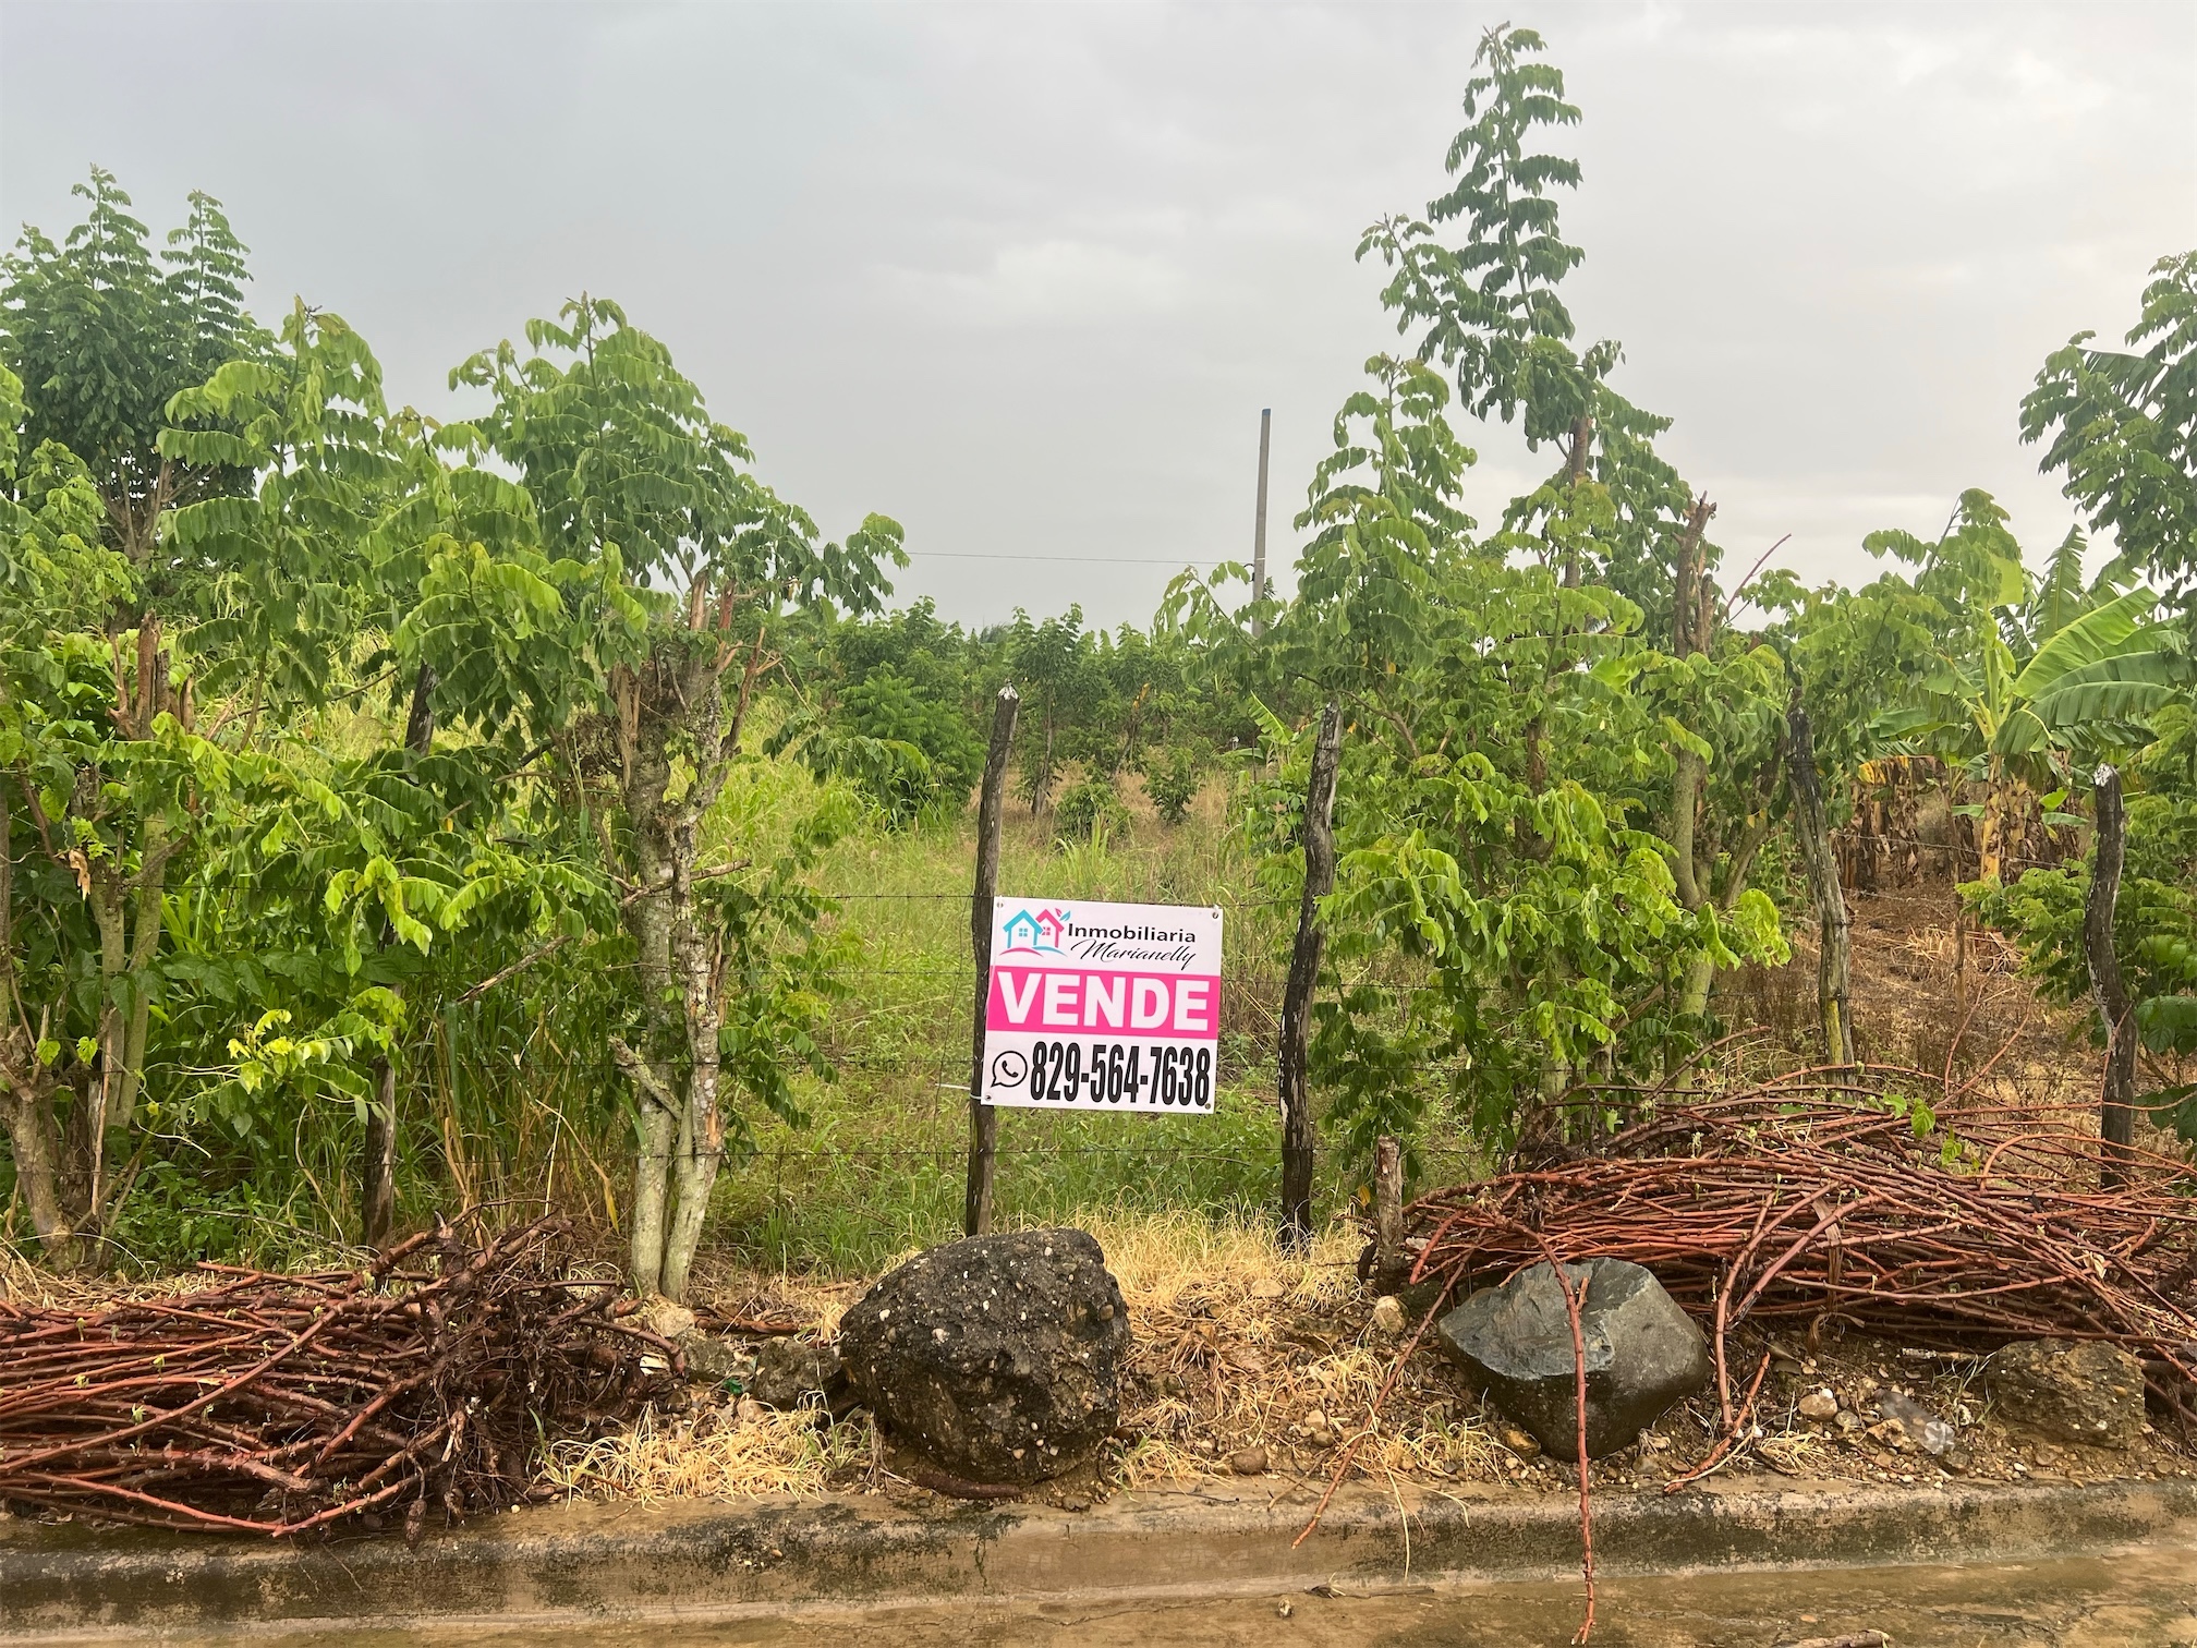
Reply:
[[[1709,1343],[1663,1285],[1624,1259],[1564,1266],[1586,1343],[1586,1457],[1617,1452],[1709,1378]],[[1564,1290],[1547,1263],[1483,1288],[1435,1334],[1503,1413],[1558,1459],[1580,1455],[1577,1358]]]

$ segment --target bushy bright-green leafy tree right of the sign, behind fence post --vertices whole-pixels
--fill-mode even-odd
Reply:
[[[1665,769],[1639,609],[1599,580],[1569,584],[1562,558],[1474,541],[1448,385],[1424,363],[1369,371],[1312,483],[1296,595],[1259,609],[1261,637],[1252,609],[1226,611],[1195,578],[1173,611],[1292,716],[1327,697],[1351,712],[1325,910],[1334,995],[1314,1039],[1329,1125],[1364,1151],[1417,1132],[1441,1096],[1501,1145],[1560,1125],[1540,1101],[1575,1079],[1659,1064],[1703,960],[1782,943],[1760,892],[1729,912],[1681,905],[1665,844],[1637,822]],[[1287,883],[1305,732],[1270,716],[1268,754],[1279,773],[1252,817]]]

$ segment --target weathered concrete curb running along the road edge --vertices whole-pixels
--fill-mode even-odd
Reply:
[[[1501,1490],[1312,1494],[1257,1483],[1118,1494],[1094,1512],[901,1510],[833,1496],[754,1505],[565,1505],[428,1534],[272,1545],[0,1523],[0,1637],[244,1633],[314,1624],[778,1615],[808,1604],[1123,1597],[1547,1580],[1575,1571],[1575,1507]],[[1408,1525],[1408,1554],[1406,1554]],[[2197,1481],[2100,1485],[1727,1485],[1595,1507],[1604,1573],[1876,1567],[2197,1545]]]

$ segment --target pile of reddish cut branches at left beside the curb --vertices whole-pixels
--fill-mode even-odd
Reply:
[[[562,1220],[371,1266],[204,1266],[99,1310],[0,1301],[0,1499],[178,1529],[303,1534],[527,1494],[538,1452],[663,1395],[677,1351],[571,1274]]]

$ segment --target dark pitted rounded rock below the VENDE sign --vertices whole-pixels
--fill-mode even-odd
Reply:
[[[839,1356],[901,1441],[969,1481],[1030,1483],[1120,1422],[1129,1307],[1083,1231],[971,1237],[855,1301]]]

